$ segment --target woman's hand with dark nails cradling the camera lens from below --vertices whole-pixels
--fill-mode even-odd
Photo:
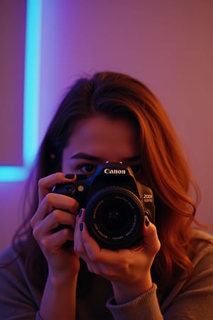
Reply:
[[[160,242],[155,225],[145,218],[143,245],[130,250],[107,250],[100,248],[89,235],[84,224],[84,210],[76,219],[75,252],[87,262],[90,272],[109,279],[117,304],[129,302],[152,287],[151,265]]]

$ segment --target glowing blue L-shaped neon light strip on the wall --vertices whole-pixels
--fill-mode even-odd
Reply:
[[[0,166],[0,182],[26,179],[38,150],[41,19],[42,0],[26,0],[23,166]]]

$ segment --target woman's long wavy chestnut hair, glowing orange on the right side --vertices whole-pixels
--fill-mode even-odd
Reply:
[[[187,249],[196,205],[189,190],[193,186],[198,195],[198,189],[162,105],[146,85],[129,75],[96,73],[70,87],[40,145],[27,183],[26,218],[14,235],[13,247],[23,259],[31,282],[43,289],[48,267],[29,223],[38,208],[38,180],[62,170],[62,151],[70,136],[72,139],[72,130],[82,118],[97,114],[112,119],[125,117],[139,128],[143,178],[154,193],[155,225],[161,243],[153,262],[153,281],[166,289],[182,272],[190,277],[193,271]]]

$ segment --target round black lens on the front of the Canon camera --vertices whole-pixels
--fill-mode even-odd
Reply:
[[[141,240],[143,206],[139,198],[120,187],[107,187],[90,198],[85,222],[100,247],[133,247]]]

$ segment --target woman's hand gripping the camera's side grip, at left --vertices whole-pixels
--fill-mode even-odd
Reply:
[[[65,174],[57,173],[41,178],[38,182],[39,205],[31,219],[33,236],[48,262],[49,276],[55,279],[67,279],[67,275],[75,276],[80,269],[79,256],[73,247],[65,247],[67,240],[74,240],[75,218],[79,204],[75,199],[52,193],[57,183],[72,182]],[[69,225],[55,232],[58,225]]]

